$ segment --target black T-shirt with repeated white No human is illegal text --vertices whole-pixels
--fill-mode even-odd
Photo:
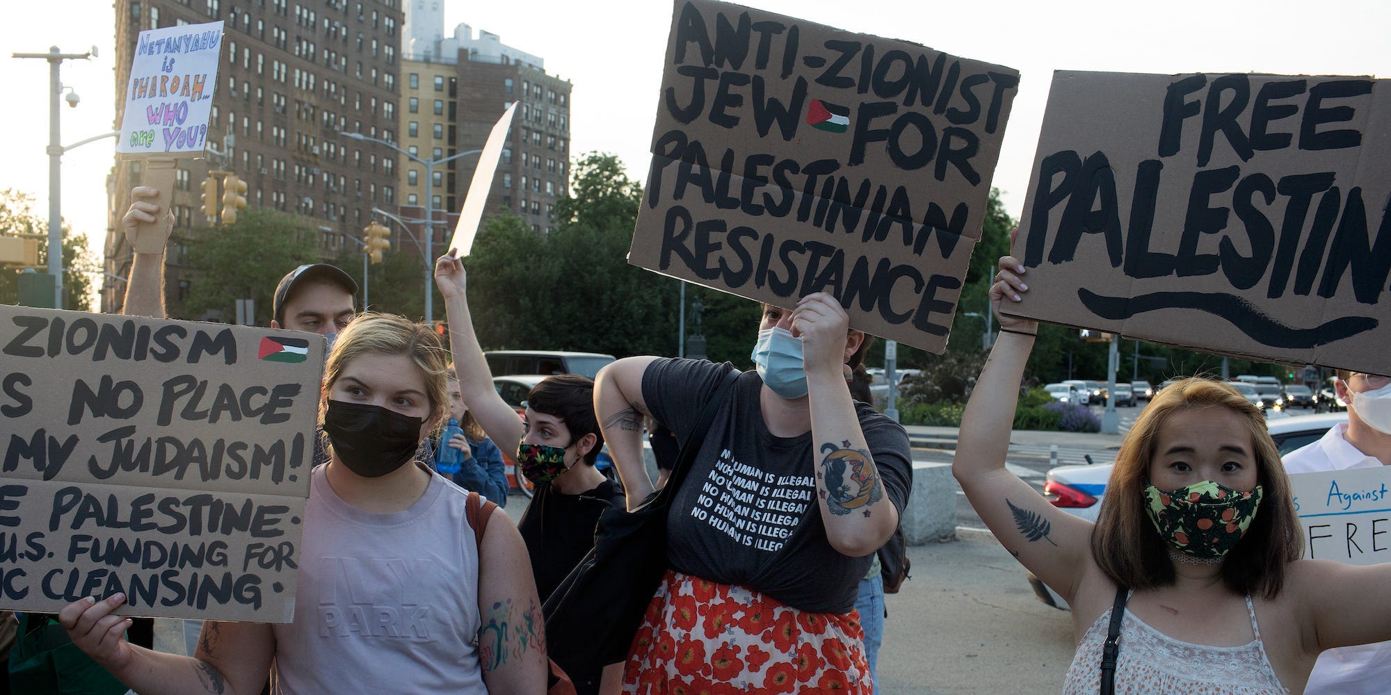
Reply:
[[[657,360],[643,399],[657,421],[686,438],[727,371],[705,360]],[[666,557],[677,571],[739,584],[814,613],[849,613],[869,556],[830,546],[815,493],[811,432],[775,436],[759,406],[762,381],[739,377],[672,500]],[[883,492],[900,514],[912,484],[903,427],[855,403]],[[849,480],[847,480],[849,482]],[[868,495],[868,492],[867,492]]]

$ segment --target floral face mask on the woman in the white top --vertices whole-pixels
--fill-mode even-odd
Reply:
[[[1174,491],[1145,485],[1145,512],[1160,538],[1193,557],[1223,557],[1246,535],[1260,506],[1260,485],[1237,492],[1213,481]]]

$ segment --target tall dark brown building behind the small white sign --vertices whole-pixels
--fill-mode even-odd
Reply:
[[[211,168],[248,183],[249,208],[299,215],[306,229],[319,234],[325,259],[345,245],[356,246],[346,238],[360,238],[373,207],[395,208],[402,202],[402,157],[344,135],[399,138],[399,0],[115,0],[115,8],[117,124],[142,29],[225,22],[210,154],[179,160],[177,171],[177,224],[167,252],[171,313],[198,282],[184,264],[188,238],[211,222],[199,200]],[[106,271],[115,275],[129,270],[120,215],[127,193],[140,181],[139,161],[117,161],[106,240]],[[103,310],[118,309],[121,291],[120,284],[108,285]]]

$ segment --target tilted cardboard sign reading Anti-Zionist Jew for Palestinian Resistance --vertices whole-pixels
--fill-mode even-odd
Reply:
[[[896,31],[899,28],[894,28]],[[946,349],[1017,71],[677,0],[629,263]]]

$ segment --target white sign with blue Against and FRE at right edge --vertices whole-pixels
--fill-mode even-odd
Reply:
[[[1391,471],[1377,466],[1298,473],[1289,485],[1305,527],[1305,557],[1348,564],[1391,562]]]

